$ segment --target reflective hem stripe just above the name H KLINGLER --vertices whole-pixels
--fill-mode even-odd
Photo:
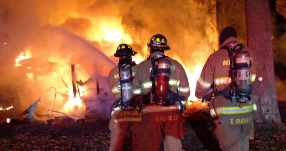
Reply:
[[[180,111],[181,107],[180,106],[161,106],[161,105],[156,105],[156,106],[148,106],[142,108],[142,114],[145,113],[150,113],[150,112],[165,112],[165,111]]]

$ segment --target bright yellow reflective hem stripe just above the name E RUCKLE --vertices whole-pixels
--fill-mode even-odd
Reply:
[[[257,111],[256,104],[242,106],[242,108],[240,107],[220,107],[220,108],[210,109],[211,116],[220,115],[220,114],[241,114],[241,113],[249,113],[252,111]]]

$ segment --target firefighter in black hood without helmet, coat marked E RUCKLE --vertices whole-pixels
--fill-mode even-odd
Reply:
[[[221,31],[219,43],[219,50],[209,56],[202,69],[195,96],[209,100],[209,94],[214,92],[209,106],[211,116],[215,118],[215,135],[221,149],[249,150],[257,110],[250,91],[256,77],[255,55],[250,48],[237,44],[236,31],[232,27]],[[239,58],[242,53],[246,55]],[[241,70],[241,67],[246,70]],[[247,89],[247,93],[240,94],[243,89]]]

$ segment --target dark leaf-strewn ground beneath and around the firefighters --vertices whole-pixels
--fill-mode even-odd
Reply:
[[[281,120],[286,125],[286,102],[278,101],[278,106]],[[55,121],[55,124],[46,124],[45,121],[1,123],[0,150],[107,151],[110,138],[108,122],[108,116],[94,116],[85,123],[75,123],[70,118]],[[190,113],[184,127],[185,138],[181,140],[184,150],[220,150],[214,136],[214,124],[207,110]],[[132,149],[130,134],[127,135],[124,148]],[[161,147],[161,150],[164,148]],[[250,150],[286,151],[286,131],[256,131],[255,139],[250,141]]]

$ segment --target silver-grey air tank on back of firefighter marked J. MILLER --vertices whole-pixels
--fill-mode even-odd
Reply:
[[[132,99],[132,75],[131,71],[128,68],[124,68],[120,71],[120,84],[121,84],[121,93],[122,93],[122,101],[129,105],[133,103]]]

